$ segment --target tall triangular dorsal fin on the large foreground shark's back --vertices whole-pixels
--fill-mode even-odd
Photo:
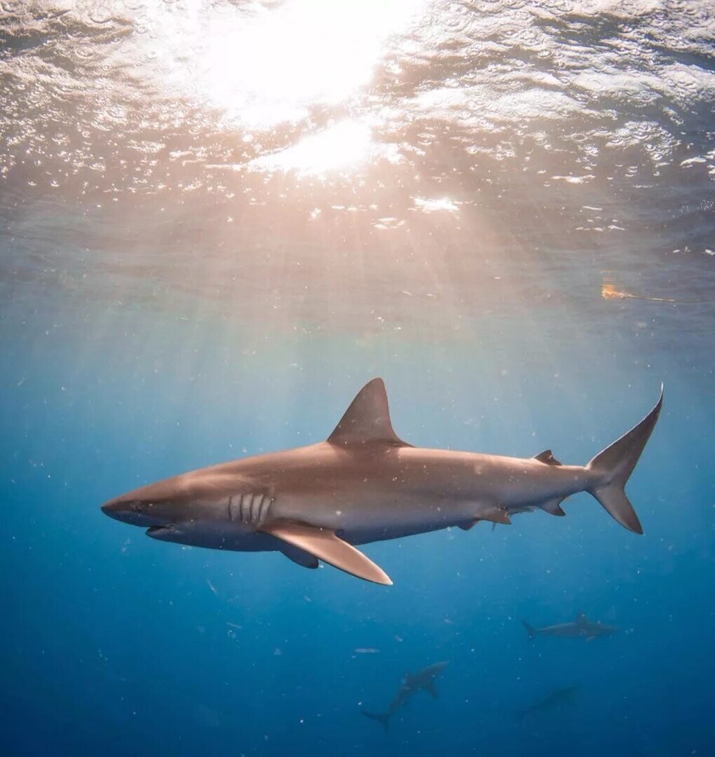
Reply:
[[[358,392],[335,430],[330,444],[368,444],[382,441],[394,447],[411,447],[392,430],[387,392],[382,378],[373,378]]]

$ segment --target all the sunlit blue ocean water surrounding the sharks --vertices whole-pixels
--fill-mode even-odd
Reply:
[[[713,753],[713,36],[700,0],[0,2],[2,754]],[[369,544],[381,587],[99,509],[378,375],[412,444],[574,464],[663,382],[645,535],[580,494]],[[522,624],[579,612],[620,633]]]

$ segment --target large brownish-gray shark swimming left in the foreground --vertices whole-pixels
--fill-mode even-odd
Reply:
[[[130,491],[102,505],[112,518],[161,541],[245,552],[273,550],[299,565],[328,562],[392,584],[356,544],[397,539],[480,520],[509,523],[532,507],[590,492],[621,525],[642,534],[623,486],[660,407],[586,466],[551,450],[529,459],[413,447],[392,430],[382,379],[353,400],[327,441],[202,468]]]

